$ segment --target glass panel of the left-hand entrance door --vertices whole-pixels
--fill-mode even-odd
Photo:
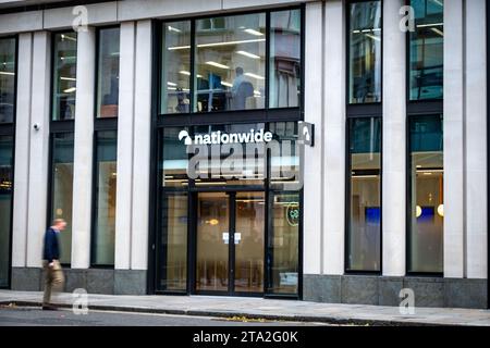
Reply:
[[[224,192],[198,194],[196,289],[228,290],[229,196]]]

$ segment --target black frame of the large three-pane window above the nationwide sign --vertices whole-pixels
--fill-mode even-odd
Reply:
[[[270,76],[270,14],[271,12],[281,12],[281,11],[291,11],[298,10],[301,17],[301,42],[299,42],[299,59],[301,59],[301,86],[299,86],[299,98],[298,105],[291,108],[269,108],[269,76]],[[217,17],[229,17],[235,15],[246,15],[246,14],[258,14],[265,13],[266,15],[266,57],[265,57],[265,72],[266,72],[266,98],[265,98],[265,108],[264,109],[250,109],[250,110],[223,110],[223,111],[213,111],[213,112],[194,112],[194,102],[195,102],[195,51],[196,51],[196,21],[207,20],[207,18],[217,18]],[[162,49],[162,38],[163,38],[163,24],[170,22],[183,22],[191,21],[191,76],[189,76],[189,112],[188,113],[161,113],[161,91],[162,91],[162,64],[163,62],[163,49]],[[278,7],[273,9],[261,9],[261,10],[249,10],[249,11],[234,11],[234,12],[225,12],[225,13],[216,13],[216,14],[206,14],[199,16],[183,16],[175,17],[169,20],[158,20],[155,21],[155,42],[154,49],[156,49],[157,64],[154,65],[156,70],[152,75],[157,77],[156,84],[154,87],[156,88],[156,100],[157,100],[157,120],[158,125],[167,125],[167,126],[183,126],[183,125],[196,125],[196,124],[222,124],[222,123],[241,123],[244,120],[254,122],[274,122],[274,121],[284,121],[284,120],[297,120],[304,117],[304,100],[305,100],[305,4],[299,5],[284,5]],[[155,53],[154,53],[155,54]],[[154,55],[155,57],[155,55]],[[197,122],[197,123],[196,123]]]

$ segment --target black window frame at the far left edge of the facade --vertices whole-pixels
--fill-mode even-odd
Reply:
[[[10,232],[9,232],[9,270],[7,286],[0,286],[0,289],[10,289],[12,286],[12,253],[13,253],[13,209],[15,199],[15,144],[16,144],[16,116],[17,116],[17,86],[19,86],[19,34],[0,36],[0,40],[14,39],[15,40],[15,79],[14,79],[14,100],[13,100],[13,117],[10,123],[0,124],[0,136],[12,136],[12,198],[10,207]]]

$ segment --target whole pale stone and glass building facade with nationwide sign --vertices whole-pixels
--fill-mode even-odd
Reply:
[[[488,13],[0,2],[0,286],[487,308]]]

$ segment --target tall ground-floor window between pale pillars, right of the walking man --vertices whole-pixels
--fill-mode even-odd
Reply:
[[[96,192],[93,264],[114,264],[118,132],[96,133]]]

